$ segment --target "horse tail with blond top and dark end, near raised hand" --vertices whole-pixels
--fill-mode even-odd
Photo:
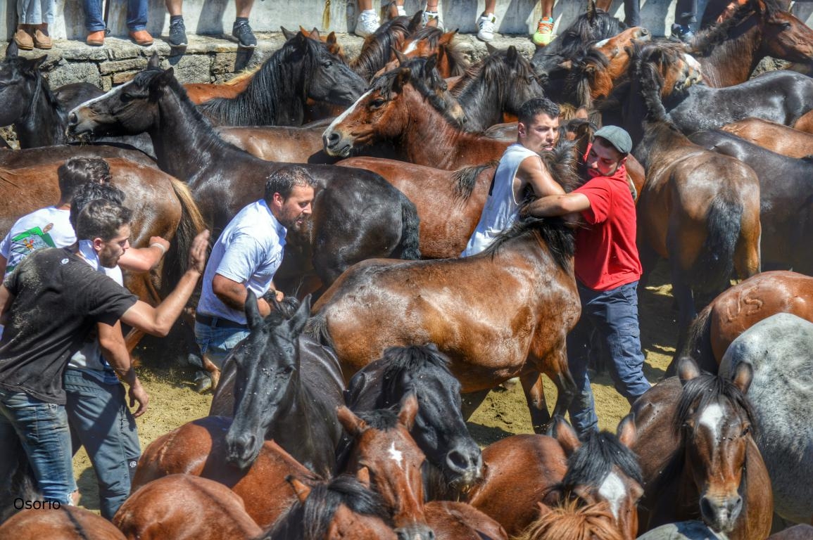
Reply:
[[[206,228],[198,205],[189,192],[189,186],[178,179],[171,179],[172,191],[180,202],[180,221],[175,230],[175,238],[167,250],[167,257],[163,261],[161,275],[162,288],[168,292],[180,281],[180,276],[189,268],[189,248],[192,240],[200,231]]]

